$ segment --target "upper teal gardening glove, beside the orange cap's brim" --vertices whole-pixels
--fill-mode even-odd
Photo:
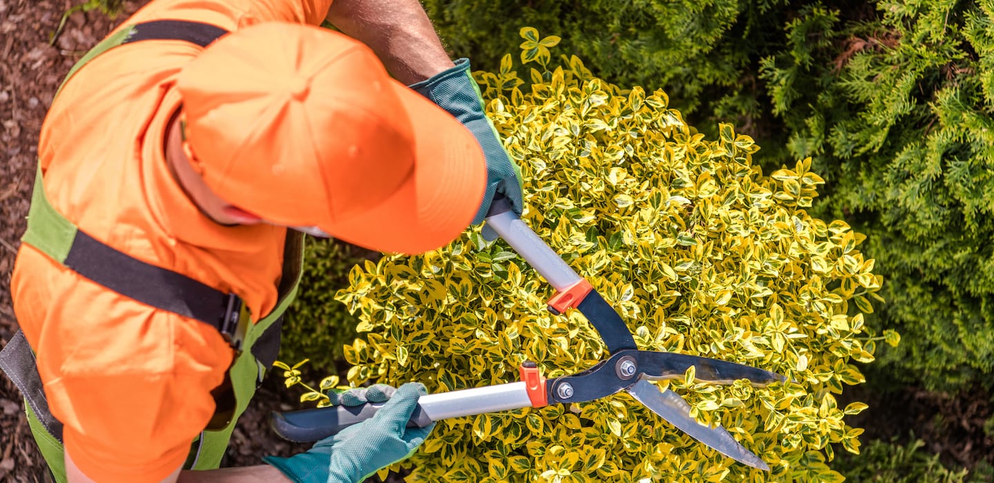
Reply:
[[[497,135],[497,129],[483,112],[480,87],[469,74],[469,59],[459,59],[455,61],[455,67],[442,71],[431,79],[414,83],[411,88],[462,122],[483,149],[483,155],[487,159],[487,188],[483,204],[472,224],[477,225],[486,218],[494,195],[498,192],[507,196],[511,209],[520,217],[524,208],[521,168],[508,156]]]

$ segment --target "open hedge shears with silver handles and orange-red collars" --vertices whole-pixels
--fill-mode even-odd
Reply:
[[[683,378],[691,367],[695,368],[697,380],[713,384],[747,380],[754,387],[763,387],[782,383],[786,378],[717,359],[638,350],[614,308],[518,218],[505,199],[495,198],[484,232],[488,238],[496,235],[504,239],[556,288],[556,294],[548,301],[550,311],[563,314],[571,308],[579,310],[597,330],[610,356],[578,374],[552,379],[544,378],[536,363],[525,361],[519,382],[422,396],[409,426],[423,427],[449,417],[551,403],[590,402],[624,391],[698,441],[736,461],[769,471],[762,459],[745,449],[724,427],[698,422],[690,415],[689,403],[673,391],[661,391],[650,382]],[[272,426],[285,439],[312,442],[371,417],[382,405],[370,402],[273,412]]]

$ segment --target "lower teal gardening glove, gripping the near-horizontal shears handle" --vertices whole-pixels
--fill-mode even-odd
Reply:
[[[373,417],[314,443],[307,452],[262,459],[296,483],[358,483],[380,468],[407,459],[424,442],[434,423],[407,427],[417,399],[427,394],[423,385],[408,383],[393,396],[392,392],[389,386],[376,385],[330,395],[332,402],[337,399],[345,405],[389,401]]]

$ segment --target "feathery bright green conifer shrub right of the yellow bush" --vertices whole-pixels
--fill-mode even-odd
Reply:
[[[798,157],[826,173],[814,213],[845,217],[888,279],[871,325],[908,343],[889,379],[956,392],[994,371],[994,2],[887,1],[880,20],[795,21],[763,65]],[[821,21],[812,21],[812,18]],[[824,38],[813,45],[802,39]]]

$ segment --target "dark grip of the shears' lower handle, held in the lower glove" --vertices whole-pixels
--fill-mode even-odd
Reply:
[[[273,411],[270,422],[272,429],[283,439],[293,442],[314,442],[373,417],[383,404],[383,402],[367,402],[361,405],[330,405],[287,412]],[[411,419],[408,420],[408,427],[424,427],[430,423],[431,419],[421,410],[421,406],[415,406]]]

